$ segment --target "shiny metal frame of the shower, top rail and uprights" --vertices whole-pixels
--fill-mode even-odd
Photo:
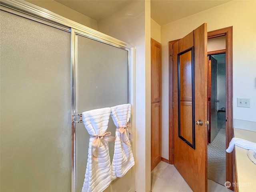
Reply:
[[[58,14],[50,12],[44,8],[40,8],[34,4],[26,1],[15,1],[15,0],[0,0],[0,10],[9,12],[30,20],[70,32],[70,46],[71,46],[71,108],[72,114],[76,114],[76,66],[77,66],[77,50],[76,50],[76,35],[81,35],[110,46],[121,48],[128,51],[128,103],[130,103],[130,66],[133,61],[133,54],[131,54],[131,45],[126,44],[116,38],[98,32],[92,28],[86,27],[82,24],[64,18]],[[72,118],[70,114],[70,118]],[[72,163],[72,181],[71,191],[76,191],[76,123],[71,125],[71,163]]]

